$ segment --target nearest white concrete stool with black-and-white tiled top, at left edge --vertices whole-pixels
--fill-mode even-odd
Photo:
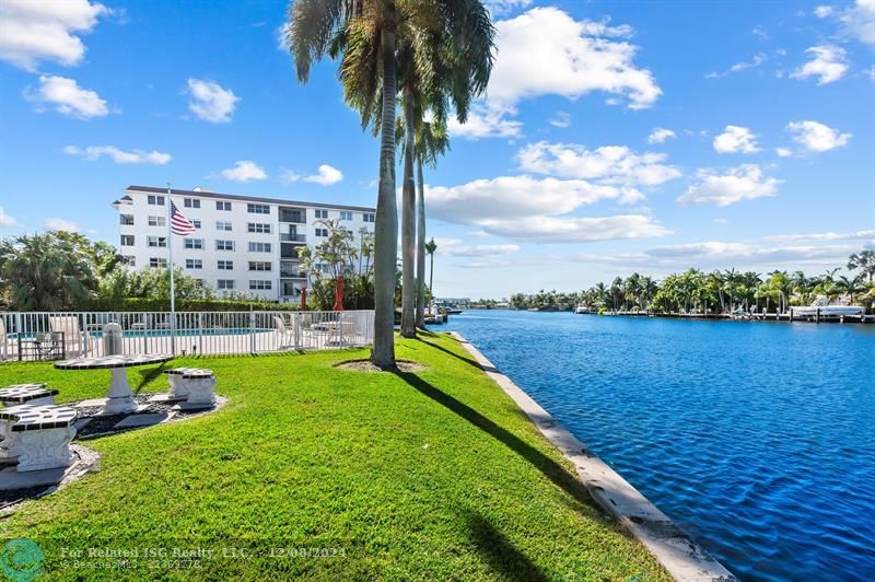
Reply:
[[[18,457],[19,473],[69,466],[75,417],[73,408],[55,405],[24,404],[0,410],[0,459]]]

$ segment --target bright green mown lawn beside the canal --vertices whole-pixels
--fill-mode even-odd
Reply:
[[[60,578],[668,579],[458,342],[399,340],[398,356],[428,368],[332,368],[365,350],[176,360],[211,368],[230,403],[88,441],[102,470],[0,519],[0,545],[36,540]],[[159,371],[131,385],[165,391]],[[109,373],[0,364],[0,385],[24,381],[71,400]],[[77,557],[89,548],[139,555],[83,570],[120,561]]]

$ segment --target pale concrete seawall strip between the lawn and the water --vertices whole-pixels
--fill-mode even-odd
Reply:
[[[614,515],[679,581],[735,581],[735,575],[693,542],[638,489],[595,456],[530,396],[502,374],[460,334],[452,333],[477,363],[523,409],[547,440],[574,464],[593,499]]]

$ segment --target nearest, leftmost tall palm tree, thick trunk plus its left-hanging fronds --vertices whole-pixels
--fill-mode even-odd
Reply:
[[[407,4],[405,4],[407,5]],[[345,98],[368,127],[380,109],[380,190],[374,224],[374,349],[371,361],[395,368],[395,260],[398,217],[395,203],[396,32],[395,0],[298,0],[287,35],[298,80],[306,83],[314,61],[326,53],[340,58]]]

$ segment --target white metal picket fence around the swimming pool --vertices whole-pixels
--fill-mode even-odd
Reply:
[[[247,354],[373,344],[374,312],[2,312],[0,359],[34,359],[54,340],[67,358],[103,354],[103,326],[122,329],[125,353]]]

